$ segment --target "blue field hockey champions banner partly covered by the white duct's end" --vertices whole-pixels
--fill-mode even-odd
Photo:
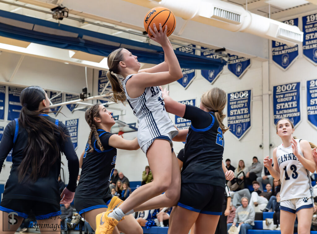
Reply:
[[[298,18],[284,21],[283,23],[298,26]],[[281,42],[272,41],[272,60],[279,68],[286,70],[298,57],[298,45],[288,46]]]

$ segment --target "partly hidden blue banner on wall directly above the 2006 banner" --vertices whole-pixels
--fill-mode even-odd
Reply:
[[[240,79],[251,66],[251,60],[237,55],[228,55],[228,69]]]

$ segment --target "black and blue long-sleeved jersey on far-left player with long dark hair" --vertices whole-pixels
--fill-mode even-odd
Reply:
[[[44,118],[56,124],[63,129],[64,133],[69,136],[69,132],[65,125],[48,116]],[[56,133],[56,140],[68,160],[69,181],[68,190],[75,192],[76,180],[79,172],[78,157],[74,150],[70,137],[62,141],[59,133]],[[4,129],[3,137],[0,143],[0,172],[4,159],[12,149],[12,168],[9,179],[5,184],[3,199],[26,199],[35,200],[50,204],[59,204],[60,191],[58,176],[61,171],[61,160],[57,160],[51,167],[46,177],[39,177],[36,181],[18,182],[18,166],[24,159],[24,149],[28,145],[28,132],[19,125],[18,119],[11,121]],[[31,170],[31,168],[29,168]]]

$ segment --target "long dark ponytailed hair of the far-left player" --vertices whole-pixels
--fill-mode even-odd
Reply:
[[[19,118],[21,125],[28,132],[28,145],[23,151],[23,160],[18,166],[18,179],[36,181],[39,177],[49,174],[50,167],[61,161],[62,142],[67,135],[61,127],[55,125],[40,114],[47,113],[49,108],[38,110],[40,103],[46,99],[45,91],[38,86],[30,86],[22,90],[20,102],[22,109]]]

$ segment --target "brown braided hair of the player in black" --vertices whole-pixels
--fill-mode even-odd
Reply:
[[[89,153],[94,152],[94,147],[91,146],[91,138],[92,138],[93,134],[97,140],[97,144],[98,144],[100,150],[101,151],[104,150],[103,146],[101,144],[101,141],[99,139],[99,134],[97,132],[97,127],[96,127],[96,124],[94,121],[94,118],[99,116],[99,106],[100,106],[100,104],[94,104],[93,106],[89,107],[85,112],[85,119],[86,119],[87,124],[90,127],[90,133],[89,133],[89,137],[88,137],[88,145],[90,147]]]

